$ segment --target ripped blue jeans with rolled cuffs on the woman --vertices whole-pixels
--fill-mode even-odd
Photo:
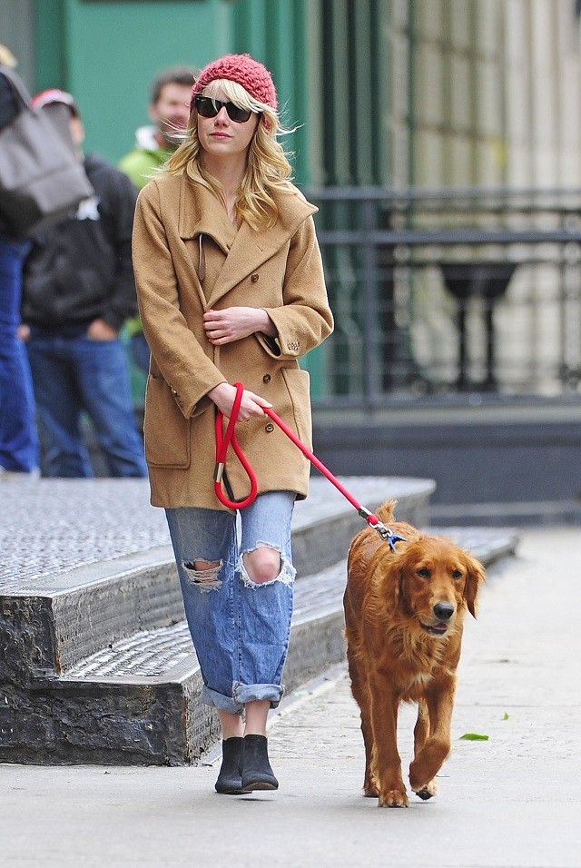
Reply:
[[[293,585],[291,518],[295,494],[259,495],[236,515],[219,509],[166,509],[183,607],[202,670],[202,702],[241,714],[243,706],[281,701]],[[281,572],[255,583],[242,556],[260,546],[281,554]],[[194,561],[220,566],[196,570]],[[200,565],[199,565],[200,566]]]

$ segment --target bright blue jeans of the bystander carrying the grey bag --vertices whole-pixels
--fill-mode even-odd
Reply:
[[[30,242],[0,234],[0,467],[38,467],[34,396],[20,323],[22,267]]]

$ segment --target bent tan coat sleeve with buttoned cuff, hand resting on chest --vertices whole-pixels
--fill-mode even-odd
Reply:
[[[333,330],[312,217],[291,238],[282,287],[282,305],[266,308],[278,330],[276,339],[259,336],[264,350],[278,359],[296,359],[318,347]]]

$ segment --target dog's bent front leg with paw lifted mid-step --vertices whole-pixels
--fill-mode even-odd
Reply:
[[[438,680],[426,694],[429,735],[409,766],[409,784],[420,798],[436,794],[436,782],[433,779],[450,752],[455,689],[455,677],[447,676]]]

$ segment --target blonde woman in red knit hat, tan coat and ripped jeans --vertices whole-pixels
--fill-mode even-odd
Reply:
[[[291,515],[309,464],[266,418],[273,406],[310,442],[301,355],[332,329],[310,205],[288,180],[271,74],[248,54],[202,69],[185,138],[140,193],[133,263],[152,350],[145,454],[166,509],[204,687],[222,725],[216,789],[276,789],[266,721],[282,695],[292,585]],[[230,417],[259,494],[236,513],[213,490],[215,413]],[[228,455],[224,482],[248,481]]]

